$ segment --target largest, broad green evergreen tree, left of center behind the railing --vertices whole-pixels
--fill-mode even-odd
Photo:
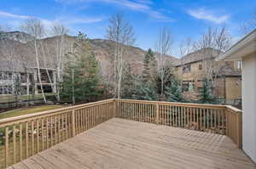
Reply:
[[[94,54],[90,52],[89,39],[79,32],[77,42],[73,44],[73,53],[67,57],[72,58],[66,66],[63,82],[61,84],[61,99],[79,102],[88,102],[99,95],[99,65]]]

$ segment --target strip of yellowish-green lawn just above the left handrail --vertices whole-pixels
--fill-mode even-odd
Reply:
[[[17,110],[10,110],[7,112],[0,113],[0,119],[14,117],[19,115],[27,115],[32,113],[38,113],[45,110],[55,110],[64,107],[64,105],[40,105],[31,108],[21,108]]]

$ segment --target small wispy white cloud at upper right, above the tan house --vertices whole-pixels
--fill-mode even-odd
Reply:
[[[205,8],[189,9],[187,13],[198,20],[208,20],[215,24],[224,23],[230,18],[228,14],[217,14],[217,12]]]

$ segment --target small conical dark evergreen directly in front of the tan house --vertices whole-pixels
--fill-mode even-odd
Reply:
[[[197,103],[218,104],[219,100],[212,94],[212,83],[209,79],[203,79],[203,87],[199,90]]]

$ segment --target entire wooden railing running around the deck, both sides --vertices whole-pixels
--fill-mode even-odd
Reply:
[[[232,106],[108,99],[0,120],[0,168],[113,117],[224,134],[241,148],[241,110]]]

